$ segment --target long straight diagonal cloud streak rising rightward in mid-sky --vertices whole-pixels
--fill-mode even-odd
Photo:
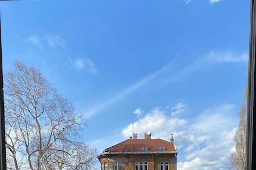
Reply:
[[[132,84],[131,86],[117,92],[117,94],[115,94],[114,96],[109,97],[106,100],[100,101],[100,103],[97,103],[97,104],[93,105],[92,107],[86,109],[86,111],[84,112],[85,116],[90,117],[93,114],[96,114],[96,113],[102,111],[102,109],[105,109],[106,107],[109,107],[110,105],[117,103],[118,101],[120,101],[122,99],[125,99],[125,97],[131,95],[133,92],[137,91],[139,88],[145,86],[148,82],[150,82],[157,75],[162,73],[168,67],[170,67],[170,65],[165,66],[158,71],[155,71],[155,73],[152,73],[152,74],[146,76],[145,78],[142,78],[138,82]]]

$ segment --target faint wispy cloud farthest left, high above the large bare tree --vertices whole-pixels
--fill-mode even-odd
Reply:
[[[52,48],[65,48],[65,40],[61,36],[40,36],[33,35],[27,38],[27,41],[32,45],[37,46],[39,49],[43,49],[44,46],[48,45]]]

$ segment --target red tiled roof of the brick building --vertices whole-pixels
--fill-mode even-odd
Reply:
[[[162,139],[127,139],[117,145],[106,149],[107,152],[141,152],[141,147],[149,147],[147,152],[175,151],[174,143]],[[158,150],[158,147],[166,147],[166,150]]]

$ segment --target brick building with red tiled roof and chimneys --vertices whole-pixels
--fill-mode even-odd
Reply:
[[[101,170],[176,170],[177,150],[174,138],[170,142],[151,139],[151,133],[144,139],[133,137],[106,148],[98,156]]]

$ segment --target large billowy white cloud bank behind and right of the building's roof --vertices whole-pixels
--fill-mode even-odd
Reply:
[[[168,116],[166,109],[155,108],[122,129],[122,135],[129,138],[134,127],[141,138],[150,130],[154,138],[170,141],[174,133],[178,152],[182,153],[178,154],[177,169],[228,169],[236,131],[234,112],[234,105],[224,104],[192,119],[182,119]]]

